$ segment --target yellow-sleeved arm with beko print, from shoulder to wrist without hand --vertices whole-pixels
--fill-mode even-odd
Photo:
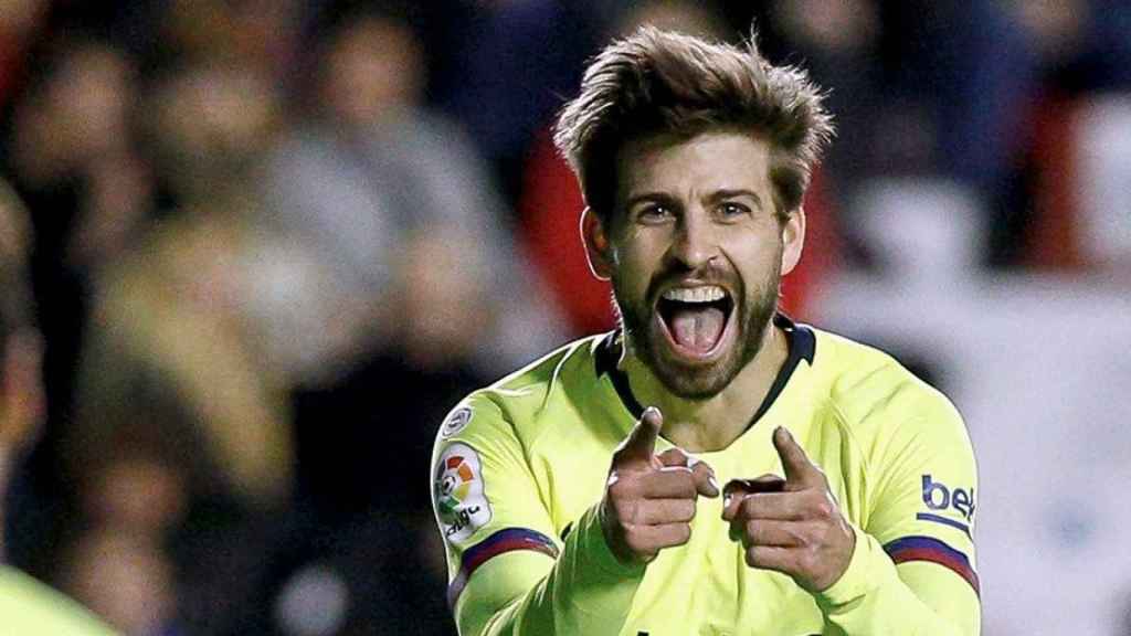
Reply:
[[[977,635],[977,470],[962,420],[932,394],[884,433],[866,527],[843,576],[817,594],[846,634]]]

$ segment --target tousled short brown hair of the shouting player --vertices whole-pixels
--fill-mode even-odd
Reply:
[[[770,65],[753,36],[740,48],[644,27],[593,60],[581,94],[558,118],[554,143],[586,204],[607,222],[616,153],[627,140],[727,128],[760,135],[770,144],[770,182],[785,215],[801,205],[832,137],[822,98],[804,70]]]

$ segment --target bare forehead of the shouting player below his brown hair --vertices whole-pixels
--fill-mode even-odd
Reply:
[[[745,132],[631,139],[616,155],[618,199],[650,191],[696,195],[749,189],[768,195],[769,165],[769,144]]]

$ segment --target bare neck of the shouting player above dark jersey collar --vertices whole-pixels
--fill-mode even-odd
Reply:
[[[710,453],[726,448],[746,430],[788,355],[785,333],[771,320],[754,359],[726,388],[707,399],[673,395],[633,355],[625,355],[620,367],[639,402],[657,406],[664,414],[662,433],[668,441],[689,453]]]

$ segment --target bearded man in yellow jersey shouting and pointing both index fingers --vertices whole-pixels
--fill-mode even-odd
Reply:
[[[555,140],[622,327],[441,426],[461,634],[978,633],[960,416],[776,311],[831,131],[753,43],[644,29],[588,68]]]

